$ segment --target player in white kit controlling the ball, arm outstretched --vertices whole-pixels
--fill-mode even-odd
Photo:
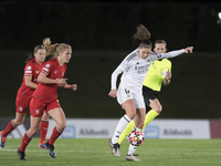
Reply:
[[[188,46],[182,50],[171,51],[168,53],[151,52],[151,42],[149,31],[144,27],[137,27],[137,33],[134,39],[140,40],[139,46],[129,53],[117,69],[112,73],[112,90],[109,96],[117,97],[117,102],[125,110],[126,114],[119,120],[113,137],[108,141],[112,153],[119,157],[119,135],[124,132],[127,124],[134,120],[135,129],[141,132],[146,115],[146,107],[143,96],[143,82],[150,64],[155,60],[175,58],[182,53],[192,53],[193,46]],[[118,89],[116,87],[117,76],[123,73]],[[139,160],[135,153],[136,146],[130,145],[127,160]]]

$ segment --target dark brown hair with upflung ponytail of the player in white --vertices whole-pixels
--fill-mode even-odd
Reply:
[[[133,38],[134,38],[134,40],[138,39],[138,40],[141,41],[140,44],[139,44],[139,48],[151,49],[152,44],[149,41],[150,32],[143,24],[137,27],[137,32],[133,35]]]

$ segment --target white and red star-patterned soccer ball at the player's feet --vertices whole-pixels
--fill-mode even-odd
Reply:
[[[139,146],[145,141],[145,135],[143,132],[138,132],[136,129],[133,129],[128,135],[128,141],[134,146]]]

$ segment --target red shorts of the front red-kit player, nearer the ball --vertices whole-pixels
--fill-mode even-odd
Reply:
[[[30,103],[30,112],[33,117],[42,117],[44,111],[48,113],[49,111],[56,107],[61,107],[59,100],[42,102],[38,97],[32,97]]]

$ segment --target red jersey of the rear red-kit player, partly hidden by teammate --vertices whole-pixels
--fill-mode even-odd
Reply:
[[[35,84],[39,84],[39,82],[36,82],[36,79],[42,70],[42,66],[45,65],[46,62],[42,62],[42,64],[40,65],[39,63],[36,63],[35,58],[31,59],[25,68],[24,68],[24,75],[23,75],[23,80],[22,80],[22,84],[17,93],[17,95],[19,97],[25,97],[25,98],[31,98],[33,92],[35,91],[35,89],[29,87],[25,85],[25,76],[32,76],[32,82]]]

